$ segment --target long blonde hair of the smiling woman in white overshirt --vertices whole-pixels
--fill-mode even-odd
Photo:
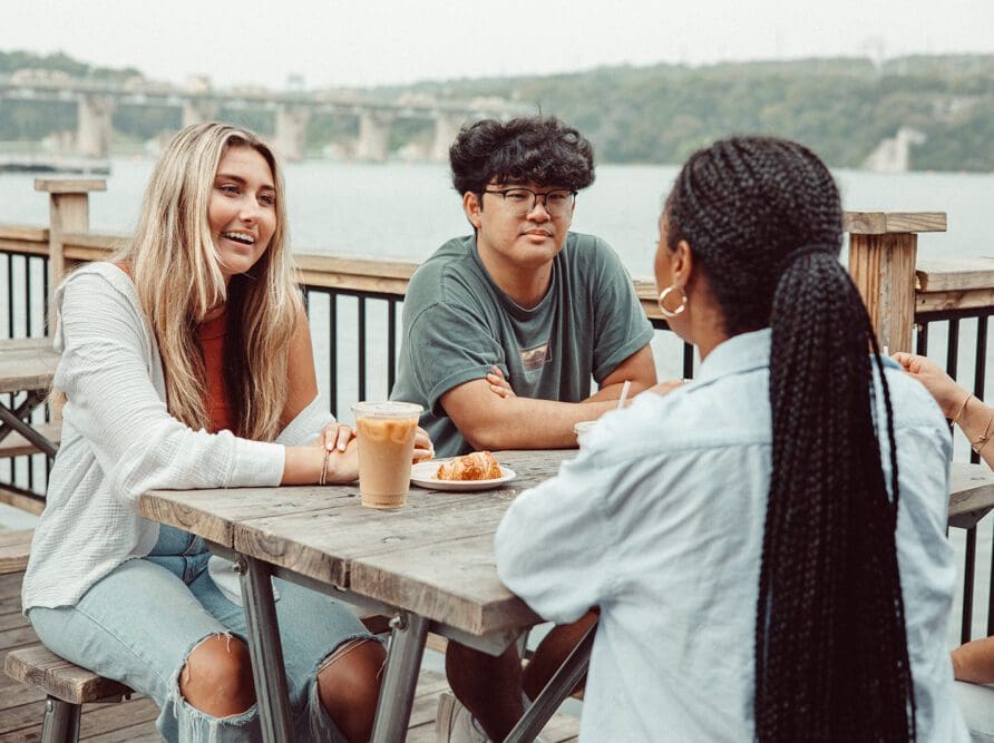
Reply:
[[[228,147],[251,147],[269,163],[276,225],[269,247],[225,287],[207,206]],[[152,174],[130,243],[110,260],[127,263],[158,342],[169,412],[207,428],[206,371],[196,326],[228,300],[225,378],[238,436],[271,441],[286,402],[290,339],[302,312],[286,239],[283,173],[256,135],[226,124],[197,124],[169,141]]]

